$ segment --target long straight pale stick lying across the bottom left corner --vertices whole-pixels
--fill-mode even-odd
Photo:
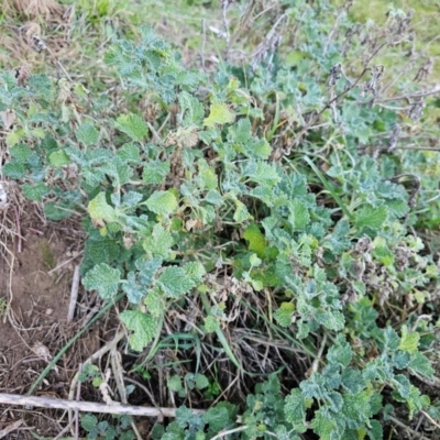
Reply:
[[[38,408],[74,409],[81,413],[121,414],[144,417],[176,417],[176,408],[151,408],[146,406],[106,405],[95,402],[75,402],[52,397],[21,396],[19,394],[0,393],[0,404],[36,406]],[[205,414],[205,409],[191,409],[194,414]]]

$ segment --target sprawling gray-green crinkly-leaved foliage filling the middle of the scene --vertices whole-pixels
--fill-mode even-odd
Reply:
[[[16,114],[2,174],[22,183],[28,199],[43,201],[51,219],[82,212],[89,234],[82,284],[106,300],[127,294],[131,307],[120,318],[133,350],[154,339],[175,301],[208,290],[207,273],[223,257],[256,295],[272,292],[279,327],[316,352],[327,341],[321,363],[287,397],[275,376],[258,385],[230,438],[299,439],[311,429],[321,439],[381,439],[385,388],[386,404],[405,404],[409,418],[429,408],[411,380],[432,377],[424,351],[433,340],[420,338],[432,331],[426,321],[408,317],[393,328],[375,306],[388,298],[428,302],[438,267],[407,228],[417,218],[397,174],[408,157],[373,158],[358,148],[386,134],[398,116],[364,98],[363,82],[351,87],[354,79],[339,77],[329,89],[332,67],[361,43],[344,47],[343,38],[329,38],[331,23],[321,20],[334,10],[326,1],[317,10],[284,3],[301,25],[298,50],[280,47],[272,65],[254,69],[227,66],[210,78],[184,67],[150,28],[141,29],[139,43],[114,41],[105,62],[120,78],[118,101],[130,110],[94,114],[101,129],[86,116],[75,120],[65,82],[33,75],[23,86],[2,73],[0,110]],[[339,35],[351,29],[345,13],[339,26]],[[70,100],[86,99],[78,85],[68,90]],[[279,136],[279,121],[272,121],[271,135],[255,129],[265,123],[260,110],[274,90],[286,123],[293,121]],[[306,116],[327,106],[330,94],[341,99],[317,117],[322,128],[306,130],[309,152],[286,145],[284,160],[275,161],[282,134],[293,142],[301,132],[296,124],[307,127]],[[158,125],[177,106],[176,127],[156,133],[135,96],[158,109]],[[320,170],[329,139],[340,147]],[[242,239],[230,240],[234,234]],[[211,310],[207,331],[219,331],[221,319]],[[204,416],[180,408],[153,438],[208,439],[237,428],[237,413],[229,404]]]

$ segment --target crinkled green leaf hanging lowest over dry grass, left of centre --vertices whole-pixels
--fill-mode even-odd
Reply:
[[[142,351],[156,334],[156,320],[151,315],[146,315],[139,309],[124,310],[120,318],[127,328],[133,331],[129,342],[130,346],[135,351]]]

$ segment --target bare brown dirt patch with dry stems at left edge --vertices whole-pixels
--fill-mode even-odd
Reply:
[[[15,240],[11,237],[16,230],[10,229],[15,223],[14,217],[14,211],[9,209],[0,226],[0,240],[4,244],[0,246],[0,300],[3,306],[9,304],[8,315],[3,312],[0,317],[0,393],[25,395],[52,356],[78,331],[82,320],[77,315],[73,323],[67,322],[73,270],[80,257],[51,273],[78,254],[82,237],[77,232],[78,224],[46,222],[31,205],[22,209],[22,249],[18,252],[19,240],[16,235]],[[82,295],[81,302],[85,299]],[[99,332],[90,332],[78,341],[35,394],[67,398],[69,382],[79,363],[99,345]],[[2,429],[22,420],[21,427],[4,438],[31,439],[26,427],[53,438],[65,426],[61,415],[56,410],[24,411],[0,406],[0,435]]]

